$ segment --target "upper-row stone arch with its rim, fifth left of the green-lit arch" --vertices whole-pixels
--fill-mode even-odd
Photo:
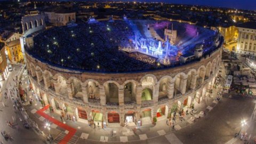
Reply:
[[[67,79],[61,75],[60,73],[55,74],[53,76],[53,79],[55,79],[56,81],[54,82],[54,89],[55,92],[60,94],[60,95],[67,95],[68,91],[67,91]]]

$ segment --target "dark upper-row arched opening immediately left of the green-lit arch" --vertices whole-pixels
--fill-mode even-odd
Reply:
[[[129,82],[124,85],[124,102],[136,102],[136,84]]]

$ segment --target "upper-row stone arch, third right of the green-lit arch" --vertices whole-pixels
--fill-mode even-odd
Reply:
[[[197,80],[197,71],[195,69],[191,69],[188,74],[188,79],[187,79],[187,86],[186,86],[186,91],[190,89],[195,89],[196,87],[196,80]]]

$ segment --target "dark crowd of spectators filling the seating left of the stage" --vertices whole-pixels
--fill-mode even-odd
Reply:
[[[132,27],[122,20],[80,23],[37,34],[34,47],[27,52],[53,65],[103,73],[162,68],[156,65],[156,58],[118,50],[119,47],[133,47],[131,39],[134,37]],[[212,37],[205,39],[206,44],[210,41]]]

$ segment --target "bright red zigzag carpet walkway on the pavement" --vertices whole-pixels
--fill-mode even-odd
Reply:
[[[48,109],[50,107],[50,105],[47,105],[45,107],[43,107],[42,109],[39,109],[36,111],[36,113],[38,115],[41,115],[42,117],[44,117],[45,119],[47,119],[48,121],[58,125],[59,127],[61,127],[62,129],[68,130],[68,134],[60,141],[60,144],[64,144],[64,143],[68,143],[68,141],[73,137],[73,135],[76,133],[76,129],[74,129],[73,127],[70,127],[66,124],[61,123],[60,121],[58,121],[57,119],[52,118],[51,116],[47,115],[44,113],[44,111],[46,109]]]

